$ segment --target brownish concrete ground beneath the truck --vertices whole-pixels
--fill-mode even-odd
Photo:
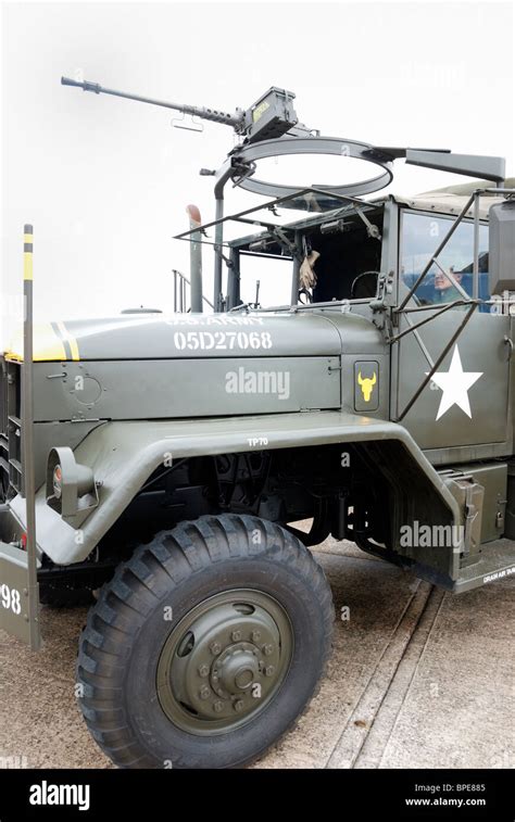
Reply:
[[[328,540],[316,556],[337,610],[327,676],[254,767],[514,768],[515,578],[453,596],[350,543]],[[75,703],[85,617],[43,608],[34,655],[0,631],[0,766],[113,767]]]

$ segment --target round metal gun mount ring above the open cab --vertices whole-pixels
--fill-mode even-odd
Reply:
[[[373,191],[379,191],[379,189],[385,188],[393,179],[392,157],[375,149],[369,143],[359,142],[357,140],[346,140],[341,137],[291,137],[286,135],[275,140],[264,140],[263,142],[242,146],[234,152],[233,157],[251,167],[259,160],[285,154],[332,154],[352,157],[353,160],[365,160],[382,168],[382,174],[379,174],[377,177],[370,177],[359,182],[344,186],[312,186],[314,189],[327,192],[328,198],[331,194],[340,197],[369,194]],[[303,188],[309,188],[307,186],[284,186],[254,179],[251,176],[241,175],[241,167],[235,168],[233,180],[236,186],[240,186],[240,188],[247,191],[271,198],[290,197]],[[315,197],[315,193],[313,197]],[[301,207],[305,208],[313,204],[313,198],[310,197],[310,193],[304,194],[302,200],[304,201],[304,205]],[[319,207],[325,202],[321,201],[319,198],[316,201]],[[299,207],[298,205],[293,205],[293,203],[298,202],[299,200],[294,200],[288,205],[289,207]],[[334,205],[335,203],[332,202],[325,205],[325,207],[334,207]],[[285,206],[287,206],[286,203]]]

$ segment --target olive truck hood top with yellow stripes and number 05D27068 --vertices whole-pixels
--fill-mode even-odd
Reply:
[[[311,312],[130,315],[34,327],[35,362],[336,356],[340,353],[341,337],[335,323]],[[23,359],[21,333],[5,351],[5,357]]]

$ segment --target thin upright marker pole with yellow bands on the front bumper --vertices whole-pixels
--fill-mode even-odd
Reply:
[[[26,225],[23,238],[23,374],[22,374],[22,494],[25,497],[27,534],[27,594],[30,647],[41,645],[39,630],[39,590],[36,557],[36,488],[34,473],[34,323],[33,323],[34,231]]]

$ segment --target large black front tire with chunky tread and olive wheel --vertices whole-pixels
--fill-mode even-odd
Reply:
[[[205,516],[120,566],[84,629],[85,720],[124,768],[234,768],[309,704],[334,609],[319,566],[272,522]]]

